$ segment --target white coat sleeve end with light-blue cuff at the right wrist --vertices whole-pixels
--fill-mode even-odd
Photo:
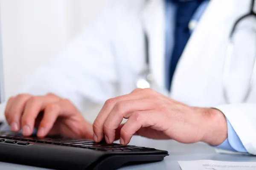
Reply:
[[[253,155],[256,155],[256,104],[231,104],[220,105],[215,107],[226,116],[228,123],[232,125],[233,130],[236,132],[238,138],[232,135],[232,130],[228,129],[228,142],[237,149],[237,140],[241,140],[245,150]],[[231,133],[230,133],[231,132]],[[238,150],[237,151],[243,151]]]

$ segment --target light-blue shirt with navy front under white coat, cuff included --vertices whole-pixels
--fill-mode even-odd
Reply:
[[[166,4],[166,89],[170,89],[177,62],[207,8],[209,0],[165,0]],[[174,37],[171,38],[171,37]],[[227,119],[228,138],[217,148],[247,153]]]

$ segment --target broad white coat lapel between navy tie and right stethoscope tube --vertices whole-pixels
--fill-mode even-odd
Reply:
[[[171,97],[195,106],[224,103],[222,71],[230,31],[249,0],[211,0],[178,62]],[[234,87],[234,85],[233,85]]]

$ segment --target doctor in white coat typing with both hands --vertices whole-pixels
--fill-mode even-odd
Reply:
[[[128,144],[135,134],[256,154],[254,18],[230,38],[251,5],[115,0],[9,99],[6,120],[24,135],[38,127],[38,136]],[[79,112],[92,102],[105,102],[93,125]]]

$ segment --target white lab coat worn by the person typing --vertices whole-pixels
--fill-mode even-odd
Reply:
[[[145,66],[143,30],[149,37],[150,68],[157,89],[164,89],[165,20],[163,0],[115,0],[103,14],[58,57],[39,68],[18,93],[52,92],[69,98],[80,110],[91,102],[136,88]],[[228,36],[234,22],[249,11],[250,0],[211,0],[177,65],[172,99],[187,105],[215,107],[229,119],[244,147],[256,154],[256,88],[247,103],[241,95],[252,71],[256,43],[248,31],[238,31],[230,69],[227,105],[222,93],[222,71]],[[250,22],[251,21],[251,22]],[[255,21],[254,21],[255,22]],[[252,26],[248,19],[241,25]],[[253,38],[252,38],[253,37]],[[251,48],[250,48],[251,47]],[[241,50],[242,49],[242,50]],[[252,56],[252,57],[250,57]],[[234,79],[236,78],[236,79]],[[237,81],[239,80],[239,81]]]

